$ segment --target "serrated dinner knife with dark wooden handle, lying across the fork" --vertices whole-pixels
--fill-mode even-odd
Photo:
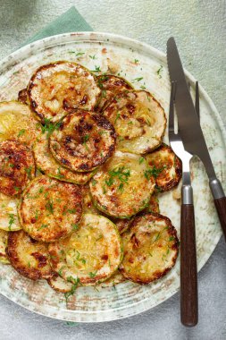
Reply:
[[[216,177],[213,169],[213,163],[205,144],[204,134],[199,123],[193,100],[188,90],[188,83],[185,78],[174,38],[169,38],[167,41],[167,63],[171,81],[174,81],[177,87],[175,106],[180,126],[181,139],[184,143],[184,148],[192,155],[197,155],[205,166],[205,171],[209,177],[209,185],[213,194],[215,208],[226,240],[226,197],[222,189],[222,183]],[[189,195],[188,192],[188,199]]]

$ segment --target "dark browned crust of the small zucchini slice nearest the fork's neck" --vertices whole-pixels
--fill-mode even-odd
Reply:
[[[170,156],[167,160],[161,158],[161,153],[165,151],[167,151]],[[160,170],[160,173],[155,176],[156,191],[170,191],[180,182],[180,178],[182,176],[181,160],[175,155],[172,148],[165,143],[162,143],[159,148],[155,149],[150,156],[155,156],[155,153],[158,153],[159,156],[155,160],[147,159],[147,163],[151,168],[155,166],[157,170]],[[165,168],[163,168],[163,166]],[[170,175],[172,167],[174,167],[175,170],[175,174],[173,176]],[[161,168],[163,168],[162,171]]]

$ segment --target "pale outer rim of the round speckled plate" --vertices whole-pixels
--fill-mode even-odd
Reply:
[[[93,38],[92,38],[93,37]],[[138,50],[140,50],[140,48],[145,48],[147,51],[147,54],[154,54],[157,57],[161,58],[163,60],[163,63],[166,63],[166,55],[158,50],[155,47],[152,47],[148,44],[146,44],[145,42],[141,42],[137,39],[133,39],[133,38],[127,38],[125,36],[122,35],[118,35],[118,34],[114,34],[114,33],[108,33],[108,32],[98,32],[98,31],[79,31],[79,32],[69,32],[69,33],[62,33],[62,34],[58,34],[58,35],[54,35],[51,37],[47,37],[47,38],[41,38],[38,39],[35,42],[30,43],[29,45],[26,45],[24,47],[21,47],[19,49],[17,49],[16,51],[14,51],[12,54],[10,55],[6,55],[4,57],[4,59],[0,62],[0,75],[1,75],[1,70],[5,67],[13,67],[13,61],[16,60],[20,60],[21,59],[21,55],[25,55],[26,58],[26,54],[29,56],[29,50],[33,50],[33,49],[37,49],[38,47],[43,47],[43,49],[51,47],[51,45],[54,47],[56,45],[62,45],[63,43],[66,43],[67,41],[63,41],[63,40],[67,40],[68,42],[72,41],[73,38],[78,38],[80,41],[80,38],[89,38],[88,41],[89,42],[96,42],[96,41],[100,41],[100,38],[104,38],[104,41],[108,42],[108,41],[112,41],[113,43],[115,43],[114,40],[117,40],[117,42],[122,43],[122,45],[133,45],[135,47],[138,48]],[[57,40],[58,40],[58,44],[57,44]],[[103,42],[104,42],[103,41]],[[45,46],[46,45],[50,45],[48,47]],[[22,58],[23,59],[23,58]],[[185,74],[188,77],[188,79],[190,81],[192,81],[193,83],[195,83],[196,78],[190,73],[188,72],[186,69],[185,70]],[[223,143],[224,143],[224,149],[226,149],[226,131],[224,129],[224,124],[222,121],[222,116],[219,114],[216,106],[214,105],[212,99],[209,97],[209,95],[207,94],[207,92],[205,91],[205,89],[199,84],[199,92],[200,94],[202,94],[202,96],[205,98],[205,101],[207,102],[208,106],[211,108],[212,113],[213,113],[213,117],[215,120],[215,123],[217,123],[217,125],[219,126],[219,131],[222,134],[222,138],[223,138]],[[219,223],[219,222],[218,222]],[[217,243],[220,241],[220,238],[222,236],[222,233],[217,234],[212,242],[212,247],[211,247],[211,251],[209,253],[205,253],[205,258],[200,262],[198,271],[203,268],[206,264],[206,262],[208,261],[208,259],[210,258],[210,256],[213,254],[214,249],[216,248]],[[180,288],[174,289],[172,292],[170,293],[166,293],[166,298],[163,301],[159,301],[155,304],[154,307],[156,307],[157,305],[159,305],[160,303],[163,303],[164,301],[168,300],[169,298],[171,298],[175,293],[177,293],[180,290]],[[92,322],[106,322],[106,321],[113,321],[116,319],[125,319],[125,318],[129,318],[135,315],[138,315],[141,312],[145,312],[146,310],[150,310],[153,309],[154,307],[149,306],[148,305],[144,305],[142,308],[142,304],[144,302],[144,300],[142,300],[141,302],[138,302],[141,306],[141,310],[138,309],[133,309],[132,312],[128,314],[124,313],[124,315],[117,315],[116,313],[109,313],[109,318],[107,318],[107,312],[108,310],[91,310],[91,311],[86,311],[85,313],[87,314],[87,316],[92,316],[92,315],[96,315],[97,313],[103,313],[106,314],[105,318],[102,319],[93,319],[91,318],[89,319],[79,319],[77,320],[75,319],[70,319],[68,318],[67,315],[65,315],[64,311],[68,312],[69,314],[72,313],[76,316],[79,316],[81,313],[81,310],[63,310],[63,313],[61,315],[55,315],[54,312],[52,310],[54,310],[54,308],[50,308],[50,312],[48,311],[48,315],[46,315],[46,313],[43,311],[38,311],[35,310],[34,308],[32,308],[31,306],[27,306],[25,302],[21,301],[18,302],[14,295],[13,296],[8,296],[7,293],[3,293],[1,292],[2,295],[4,295],[4,297],[6,297],[7,299],[9,299],[10,301],[20,305],[21,307],[25,308],[26,310],[38,313],[39,315],[43,315],[47,318],[52,318],[52,319],[60,319],[60,320],[68,320],[68,321],[73,321],[73,322],[85,322],[85,323],[92,323]],[[33,304],[33,303],[32,303]],[[132,303],[130,305],[129,310],[133,307],[135,303]],[[60,310],[60,309],[59,309]],[[128,310],[128,306],[122,307],[121,310]],[[85,314],[84,312],[82,314]],[[64,314],[64,315],[63,315]],[[67,313],[66,313],[67,314]]]

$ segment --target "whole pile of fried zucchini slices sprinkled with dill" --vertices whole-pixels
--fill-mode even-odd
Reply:
[[[69,297],[147,285],[179,242],[158,194],[180,182],[163,107],[113,74],[59,61],[0,103],[0,261]]]

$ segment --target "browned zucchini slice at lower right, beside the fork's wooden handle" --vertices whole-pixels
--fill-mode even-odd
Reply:
[[[135,217],[129,233],[122,235],[124,258],[120,271],[141,285],[164,276],[178,257],[179,241],[171,220],[160,214]]]

